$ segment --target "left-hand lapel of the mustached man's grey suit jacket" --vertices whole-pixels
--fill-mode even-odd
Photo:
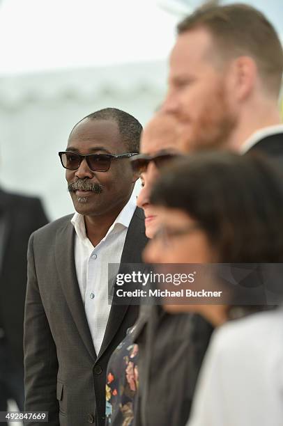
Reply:
[[[60,228],[56,233],[55,255],[56,269],[59,274],[61,286],[75,321],[79,335],[81,336],[91,358],[95,360],[96,354],[93,340],[86,319],[84,303],[79,291],[79,283],[75,270],[75,229],[68,221],[66,226]]]

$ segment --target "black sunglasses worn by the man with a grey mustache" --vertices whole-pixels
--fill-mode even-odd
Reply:
[[[108,171],[111,161],[114,159],[130,158],[137,155],[136,152],[125,152],[124,154],[89,154],[80,155],[76,152],[62,151],[59,152],[61,164],[68,170],[77,170],[82,161],[86,159],[86,163],[92,171]]]

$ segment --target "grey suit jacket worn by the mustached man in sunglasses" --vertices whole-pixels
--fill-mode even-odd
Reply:
[[[65,216],[29,242],[24,325],[26,411],[49,411],[49,425],[105,424],[105,381],[113,350],[135,323],[138,306],[112,306],[99,354],[75,271],[75,230]],[[121,263],[142,262],[144,214],[137,208]],[[27,423],[35,425],[36,423]]]

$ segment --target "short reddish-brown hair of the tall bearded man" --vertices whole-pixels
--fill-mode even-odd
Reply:
[[[197,28],[211,33],[220,58],[250,56],[264,86],[278,96],[282,83],[282,44],[272,24],[259,10],[241,3],[202,6],[178,24],[178,34]],[[217,54],[217,52],[216,52]]]

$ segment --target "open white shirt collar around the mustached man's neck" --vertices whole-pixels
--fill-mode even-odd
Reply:
[[[136,207],[137,207],[136,197],[135,197],[135,194],[132,194],[130,196],[130,200],[128,200],[128,203],[123,207],[121,212],[118,214],[118,216],[116,217],[115,221],[112,223],[112,226],[110,226],[109,230],[107,231],[107,234],[102,239],[102,241],[104,241],[110,233],[113,234],[113,233],[119,232],[119,230],[121,230],[121,227],[128,228]],[[86,226],[84,223],[83,214],[75,212],[74,216],[72,216],[71,223],[75,228],[77,237],[79,237],[79,239],[82,242],[89,240],[88,237],[86,236]]]

